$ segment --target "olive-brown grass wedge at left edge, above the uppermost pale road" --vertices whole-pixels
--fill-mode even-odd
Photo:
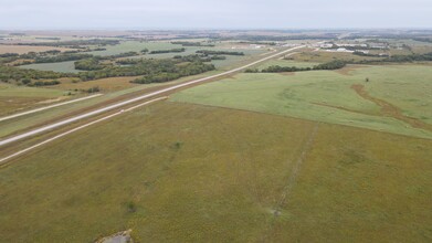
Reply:
[[[0,116],[63,97],[65,96],[62,91],[0,84]]]

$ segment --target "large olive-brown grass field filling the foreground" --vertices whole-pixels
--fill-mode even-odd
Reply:
[[[158,103],[0,168],[0,234],[91,242],[131,229],[139,242],[430,242],[431,146]]]

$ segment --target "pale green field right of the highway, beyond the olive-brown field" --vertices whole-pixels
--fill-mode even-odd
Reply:
[[[370,82],[365,82],[367,77]],[[432,70],[421,65],[348,66],[341,71],[295,74],[242,73],[182,91],[171,101],[432,138],[430,129],[420,129],[394,117],[382,116],[378,104],[361,97],[352,88],[352,85],[363,85],[371,96],[391,103],[407,116],[430,124],[430,78]]]

